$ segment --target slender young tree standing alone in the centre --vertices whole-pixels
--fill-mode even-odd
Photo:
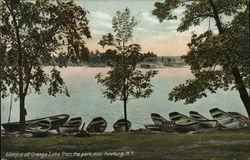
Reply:
[[[99,73],[96,76],[97,82],[106,87],[103,90],[105,97],[113,101],[121,100],[124,106],[124,119],[127,124],[127,102],[130,98],[146,98],[153,92],[150,79],[157,73],[148,71],[143,74],[136,70],[136,64],[142,61],[143,54],[139,44],[128,44],[132,38],[133,27],[136,25],[134,17],[130,16],[130,11],[117,11],[112,20],[115,36],[111,33],[104,35],[99,42],[100,45],[110,46],[104,54],[109,57],[109,65],[112,70],[107,72],[107,76]]]

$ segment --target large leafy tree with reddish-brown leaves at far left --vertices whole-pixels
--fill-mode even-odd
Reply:
[[[0,5],[1,45],[6,51],[1,52],[1,57],[6,57],[6,61],[0,61],[5,77],[1,92],[8,90],[18,96],[20,131],[24,132],[25,97],[31,88],[40,94],[46,84],[49,95],[69,96],[55,57],[65,55],[74,63],[86,59],[88,49],[83,38],[90,38],[87,11],[73,1],[4,0]],[[58,62],[59,67],[66,67],[66,63]],[[50,74],[45,72],[45,66],[53,66]]]

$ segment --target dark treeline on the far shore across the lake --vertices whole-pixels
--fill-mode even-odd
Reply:
[[[58,57],[58,59],[64,59],[63,57]],[[65,60],[66,61],[66,60]],[[68,66],[88,66],[88,67],[107,67],[108,60],[105,54],[101,53],[99,50],[91,51],[88,55],[88,59],[85,62],[78,64],[67,62]],[[138,67],[142,68],[155,68],[164,66],[186,66],[185,60],[181,56],[157,56],[153,52],[147,52],[143,54],[141,58],[141,63]]]

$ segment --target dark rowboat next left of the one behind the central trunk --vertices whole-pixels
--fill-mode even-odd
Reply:
[[[103,119],[102,117],[97,117],[94,118],[89,125],[87,126],[87,131],[89,133],[94,133],[94,132],[104,132],[105,129],[107,128],[107,121]]]

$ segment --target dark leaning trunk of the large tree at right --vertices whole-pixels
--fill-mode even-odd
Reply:
[[[213,3],[213,0],[208,0],[208,1],[211,5],[219,34],[223,34],[224,29],[222,28],[222,24],[221,24],[221,21],[219,18],[217,8],[216,8],[215,4]],[[226,59],[227,59],[228,63],[230,64],[230,57],[228,57],[226,55]],[[236,87],[239,90],[241,101],[243,102],[245,109],[247,111],[248,117],[250,118],[250,97],[249,97],[249,94],[247,93],[246,86],[243,83],[242,76],[240,75],[239,69],[237,67],[233,67],[232,74],[233,74],[233,77],[235,80]]]

